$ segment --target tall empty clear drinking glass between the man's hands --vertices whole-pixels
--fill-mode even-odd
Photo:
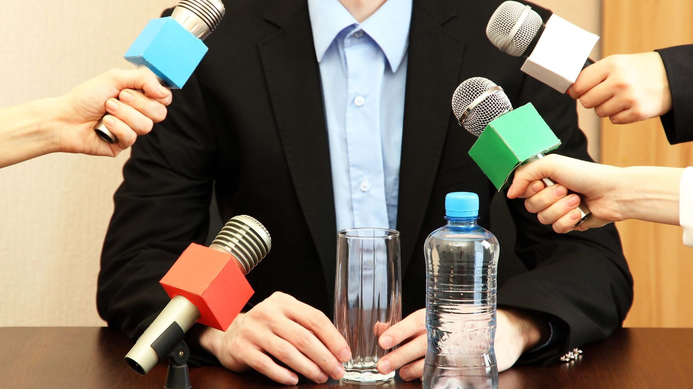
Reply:
[[[376,365],[387,350],[380,334],[402,317],[399,233],[384,228],[350,228],[337,233],[335,327],[351,348],[345,381],[384,382]]]

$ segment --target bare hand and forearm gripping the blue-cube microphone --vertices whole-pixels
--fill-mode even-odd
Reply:
[[[112,69],[63,96],[0,108],[0,168],[53,152],[117,156],[164,120],[170,102],[170,91],[147,69]],[[105,113],[118,143],[94,134]]]

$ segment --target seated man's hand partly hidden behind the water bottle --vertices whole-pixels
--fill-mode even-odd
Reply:
[[[547,338],[548,323],[541,316],[519,309],[499,308],[496,314],[495,359],[498,371],[511,368],[527,350],[541,344]],[[401,322],[389,327],[380,336],[380,347],[400,347],[378,361],[382,374],[400,369],[405,381],[421,379],[423,357],[426,356],[426,309],[419,309]]]

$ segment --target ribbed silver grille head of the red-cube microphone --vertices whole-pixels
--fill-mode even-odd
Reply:
[[[233,254],[243,264],[247,274],[270,252],[272,237],[257,219],[240,215],[227,222],[212,244],[222,246]]]

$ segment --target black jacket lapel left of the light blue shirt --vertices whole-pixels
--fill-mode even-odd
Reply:
[[[313,237],[330,304],[336,222],[320,72],[305,0],[273,0],[265,20],[280,29],[258,44],[292,181]],[[286,233],[291,233],[286,231]]]

